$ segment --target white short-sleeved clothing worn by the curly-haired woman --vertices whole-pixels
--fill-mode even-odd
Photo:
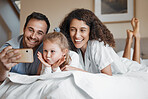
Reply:
[[[111,64],[113,74],[126,73],[128,71],[138,71],[141,65],[137,62],[119,57],[112,47],[104,45],[104,42],[97,40],[88,41],[87,49],[82,58],[80,49],[78,50],[80,63],[84,70],[92,73],[100,73],[102,69]]]

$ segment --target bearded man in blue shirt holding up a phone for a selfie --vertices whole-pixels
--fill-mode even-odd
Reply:
[[[9,71],[26,75],[34,75],[37,73],[40,63],[37,58],[37,52],[42,52],[42,39],[48,32],[49,28],[50,23],[45,15],[33,12],[27,17],[23,29],[23,35],[7,41],[0,48],[0,82],[5,80]],[[7,52],[12,48],[32,48],[34,51],[34,62],[12,63],[12,61],[21,57],[20,55],[13,56],[18,50]]]

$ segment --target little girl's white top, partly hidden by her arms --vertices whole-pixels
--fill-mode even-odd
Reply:
[[[79,63],[79,55],[74,51],[69,51],[69,55],[71,57],[70,66],[82,69],[82,66]],[[58,67],[55,72],[61,72],[60,68]],[[42,69],[40,74],[48,74],[53,73],[51,67],[44,66],[42,64]]]

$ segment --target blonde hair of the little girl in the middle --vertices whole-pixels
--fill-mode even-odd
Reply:
[[[69,50],[68,40],[61,32],[51,32],[51,33],[46,34],[44,36],[43,42],[47,41],[47,40],[52,43],[54,42],[54,43],[58,44],[62,51],[64,49]],[[71,57],[69,55],[69,52],[67,52],[65,56],[66,56],[65,62],[62,65],[60,65],[60,68],[65,65],[69,65],[69,63],[71,61]]]

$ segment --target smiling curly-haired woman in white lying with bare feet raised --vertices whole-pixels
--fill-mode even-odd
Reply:
[[[138,22],[136,21],[137,19],[132,21],[133,32],[127,31],[131,38],[138,38],[139,35]],[[115,41],[112,33],[90,10],[73,10],[65,17],[59,27],[71,43],[70,48],[79,54],[80,63],[85,71],[112,75],[112,73],[122,74],[129,71],[138,71],[142,67],[138,62],[135,62],[139,58],[137,55],[140,53],[138,43],[140,41],[137,39],[136,47],[134,47],[138,49],[134,51],[134,54],[137,55],[133,55],[136,60],[127,59],[132,40],[127,41],[126,48],[128,49],[125,49],[124,53],[126,58],[120,58],[113,50]],[[67,70],[67,68],[70,69],[71,66],[66,66],[62,70]]]

